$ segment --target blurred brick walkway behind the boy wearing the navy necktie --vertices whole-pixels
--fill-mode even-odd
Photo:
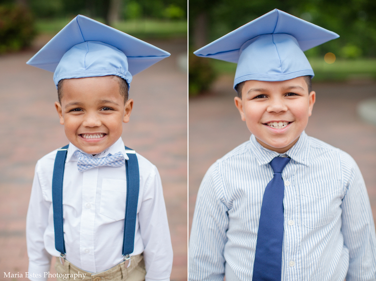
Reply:
[[[196,194],[211,164],[240,143],[250,132],[234,105],[233,77],[221,77],[211,93],[189,99],[190,231]],[[356,105],[376,96],[376,83],[313,84],[316,103],[305,132],[348,152],[358,164],[376,219],[376,127],[356,114]]]

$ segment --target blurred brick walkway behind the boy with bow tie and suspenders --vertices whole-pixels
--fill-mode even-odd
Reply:
[[[123,140],[159,169],[174,250],[171,280],[184,281],[187,72],[177,61],[187,54],[187,41],[150,43],[171,57],[135,75],[130,90],[135,104],[130,123],[123,127]],[[25,217],[36,161],[68,143],[53,105],[53,74],[25,65],[35,52],[0,56],[0,280],[12,280],[4,278],[4,272],[24,276],[27,271]]]

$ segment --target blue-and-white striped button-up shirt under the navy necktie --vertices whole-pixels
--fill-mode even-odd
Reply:
[[[210,167],[193,216],[190,281],[252,280],[268,163],[278,155],[251,136]],[[376,281],[375,224],[352,157],[305,132],[287,155],[281,280]]]

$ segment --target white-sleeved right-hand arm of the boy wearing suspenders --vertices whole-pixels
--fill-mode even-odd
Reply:
[[[161,178],[154,165],[143,192],[139,224],[144,244],[145,281],[169,281],[173,258],[171,237]]]

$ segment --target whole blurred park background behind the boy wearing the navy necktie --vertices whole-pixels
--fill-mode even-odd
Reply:
[[[192,52],[278,8],[340,38],[305,51],[316,104],[305,132],[348,152],[362,171],[376,218],[376,1],[189,0],[188,229],[197,190],[217,159],[249,140],[234,105],[236,64]]]

